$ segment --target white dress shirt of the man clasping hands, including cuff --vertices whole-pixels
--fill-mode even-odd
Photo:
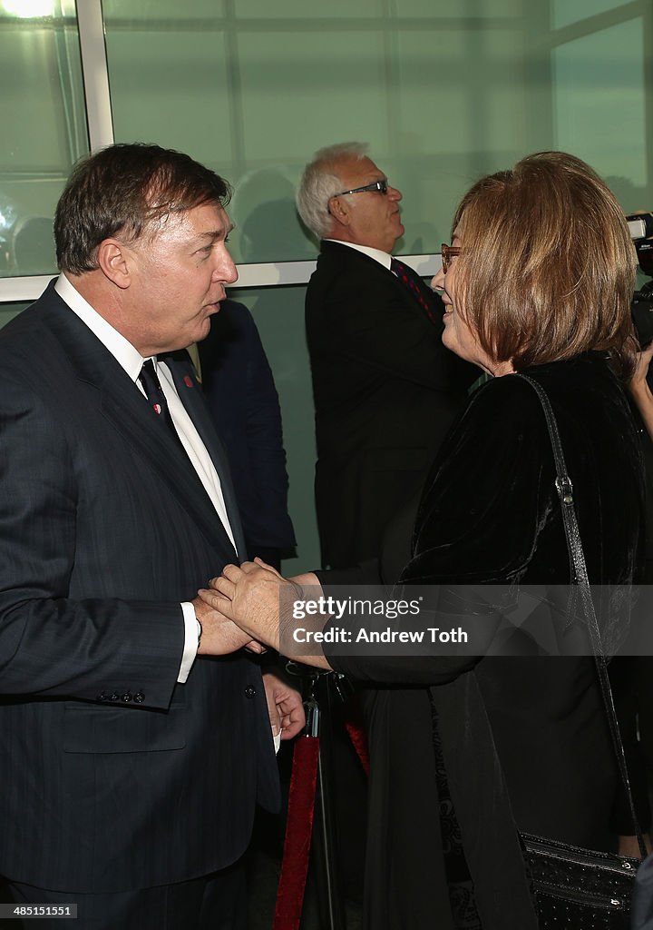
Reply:
[[[143,363],[147,362],[148,359],[142,357],[140,352],[134,348],[134,346],[129,342],[124,336],[118,332],[117,329],[114,329],[110,323],[108,323],[104,317],[100,316],[97,311],[91,307],[87,300],[85,300],[79,291],[75,290],[72,283],[66,277],[64,273],[59,274],[57,283],[55,284],[55,290],[59,294],[59,297],[66,303],[89,329],[98,337],[100,342],[105,346],[106,349],[111,352],[111,355],[115,358],[116,362],[124,368],[124,371],[127,373],[130,379],[134,381],[137,389],[145,396],[145,391],[142,384],[138,380],[140,375],[140,370],[143,367]],[[197,472],[197,475],[204,486],[204,490],[211,498],[211,502],[215,507],[215,512],[220,518],[220,522],[225,527],[229,539],[233,543],[233,548],[236,549],[236,543],[233,537],[233,531],[231,525],[229,524],[229,517],[227,515],[227,507],[225,505],[225,498],[222,493],[222,485],[220,484],[220,479],[215,471],[215,466],[208,452],[206,451],[206,446],[202,443],[202,438],[200,434],[195,429],[195,426],[192,420],[189,418],[188,413],[186,412],[186,407],[181,403],[179,395],[176,392],[175,382],[173,380],[170,369],[167,365],[164,365],[163,362],[157,362],[156,358],[152,359],[154,363],[154,370],[157,373],[163,394],[165,395],[165,400],[170,411],[170,416],[172,417],[173,423],[175,424],[176,432],[179,434],[179,439],[181,444],[184,446],[190,462]],[[203,581],[203,579],[199,579]],[[181,665],[179,667],[179,674],[177,676],[177,682],[184,684],[189,676],[189,671],[192,667],[192,664],[197,655],[197,643],[198,643],[198,632],[200,630],[200,625],[195,617],[195,610],[193,605],[189,602],[181,604],[181,609],[184,615],[184,652],[181,658]]]

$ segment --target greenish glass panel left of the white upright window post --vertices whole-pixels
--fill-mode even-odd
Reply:
[[[88,151],[73,0],[0,0],[0,86],[0,276],[52,272],[54,208]]]

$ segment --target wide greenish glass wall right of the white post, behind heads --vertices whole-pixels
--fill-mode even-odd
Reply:
[[[232,181],[245,262],[314,255],[302,168],[367,140],[404,193],[400,251],[435,251],[469,183],[528,152],[563,146],[644,183],[642,2],[278,0],[271,16],[263,0],[104,0],[116,139],[175,145]]]

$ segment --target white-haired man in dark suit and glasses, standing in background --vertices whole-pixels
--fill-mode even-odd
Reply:
[[[401,193],[360,143],[320,150],[299,213],[320,240],[307,289],[323,565],[379,554],[478,377],[441,343],[441,301],[391,252]],[[408,554],[408,553],[407,553]]]

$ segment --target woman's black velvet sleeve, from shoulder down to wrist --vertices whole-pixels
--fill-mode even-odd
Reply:
[[[434,463],[400,584],[426,586],[437,604],[453,585],[458,592],[470,586],[470,601],[477,601],[479,585],[509,590],[529,567],[555,512],[554,498],[553,457],[537,396],[518,379],[488,382],[473,395]],[[564,538],[560,544],[566,558]],[[464,616],[477,631],[477,655],[357,657],[333,645],[325,652],[336,671],[359,680],[446,684],[474,668],[490,647],[501,622],[491,601],[489,595],[480,616],[472,617],[471,610],[465,615],[464,604],[440,608],[437,615],[441,628]]]

